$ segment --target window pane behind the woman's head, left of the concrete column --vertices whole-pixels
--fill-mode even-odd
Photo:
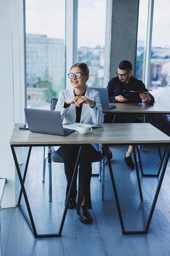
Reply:
[[[79,0],[78,61],[90,70],[87,85],[103,87],[106,0]]]

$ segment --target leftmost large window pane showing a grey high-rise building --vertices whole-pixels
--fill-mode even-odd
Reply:
[[[50,109],[65,88],[65,1],[26,0],[27,107]]]

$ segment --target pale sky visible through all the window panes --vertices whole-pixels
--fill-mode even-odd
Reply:
[[[48,4],[47,4],[48,2]],[[106,0],[79,0],[78,47],[104,47]],[[148,0],[140,0],[138,39],[146,40]],[[155,0],[152,46],[170,45],[170,0]],[[26,0],[26,33],[65,38],[64,0]]]

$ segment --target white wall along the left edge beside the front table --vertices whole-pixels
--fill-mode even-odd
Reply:
[[[0,177],[7,178],[3,208],[15,206],[15,165],[9,142],[14,124],[24,122],[22,13],[22,0],[0,0]]]

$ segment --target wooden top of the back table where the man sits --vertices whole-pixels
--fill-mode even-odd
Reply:
[[[145,113],[145,114],[166,114],[170,115],[170,106],[154,103],[149,105],[146,103],[109,103],[115,105],[116,108],[103,110],[104,113]]]

